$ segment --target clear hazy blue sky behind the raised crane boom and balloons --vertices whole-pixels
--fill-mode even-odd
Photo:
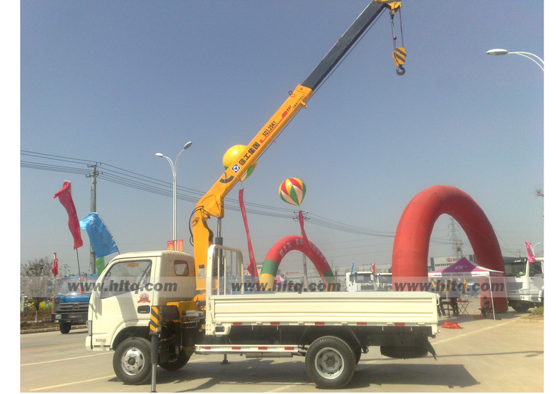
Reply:
[[[188,218],[222,174],[224,152],[250,142],[367,3],[22,1],[20,160],[83,171],[101,163],[97,212],[120,252],[165,249],[172,198],[115,181],[133,172],[142,185],[171,191],[170,165],[154,154],[175,160],[193,141],[177,170],[179,188],[190,189],[181,189],[188,200],[178,200],[178,238],[193,254]],[[485,53],[504,48],[545,58],[543,12],[543,1],[404,1],[404,76],[395,73],[390,21],[382,15],[259,159],[243,182],[246,202],[293,217],[278,187],[300,178],[307,186],[302,209],[313,220],[309,240],[329,263],[386,268],[404,207],[425,188],[450,185],[482,207],[503,255],[523,254],[525,241],[541,243],[541,254],[546,206],[534,190],[544,188],[543,72],[521,56]],[[76,271],[67,215],[51,198],[71,181],[82,219],[90,179],[19,171],[20,261],[57,252]],[[238,190],[227,196],[230,206]],[[317,218],[382,236],[318,226]],[[257,261],[283,236],[300,233],[288,218],[248,219]],[[430,256],[452,255],[449,222],[442,216],[436,223]],[[216,228],[215,220],[209,224]],[[237,211],[226,211],[223,236],[247,258]],[[81,268],[89,250],[82,237]],[[473,253],[461,237],[464,254]],[[282,264],[295,270],[300,261],[295,252]]]

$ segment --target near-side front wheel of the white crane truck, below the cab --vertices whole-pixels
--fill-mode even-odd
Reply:
[[[151,377],[151,343],[145,338],[127,338],[114,352],[114,372],[125,384],[142,384]]]

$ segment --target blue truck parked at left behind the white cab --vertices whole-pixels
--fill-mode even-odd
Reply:
[[[54,297],[51,321],[60,323],[62,334],[70,332],[72,325],[84,325],[87,322],[89,299],[97,279],[99,276],[95,274],[58,279],[58,292]]]

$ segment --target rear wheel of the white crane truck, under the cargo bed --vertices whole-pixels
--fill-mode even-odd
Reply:
[[[305,355],[305,370],[318,388],[342,388],[350,383],[357,362],[350,345],[336,336],[322,336]]]

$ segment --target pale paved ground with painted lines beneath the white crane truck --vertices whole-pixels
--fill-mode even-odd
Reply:
[[[473,308],[473,306],[470,307]],[[361,356],[349,392],[542,392],[544,343],[542,323],[521,322],[510,312],[502,320],[473,316],[448,319],[463,329],[441,329],[431,343],[438,354],[399,360],[382,356],[377,347]],[[22,334],[22,392],[148,393],[150,384],[129,386],[117,379],[113,352],[85,349],[85,329]],[[193,355],[177,372],[158,368],[158,392],[321,391],[309,381],[304,359],[245,359]]]

